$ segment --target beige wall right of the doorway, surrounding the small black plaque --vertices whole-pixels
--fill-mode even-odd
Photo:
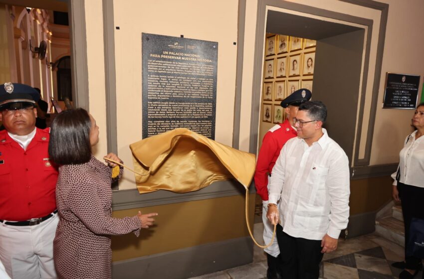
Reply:
[[[424,3],[422,0],[384,0],[390,5],[382,75],[374,128],[371,164],[399,161],[399,151],[413,130],[414,110],[382,109],[386,73],[420,75],[418,102],[424,77]]]

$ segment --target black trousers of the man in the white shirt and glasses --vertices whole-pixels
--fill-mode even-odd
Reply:
[[[318,279],[321,240],[309,240],[289,236],[277,225],[277,241],[280,248],[280,273],[283,279]]]

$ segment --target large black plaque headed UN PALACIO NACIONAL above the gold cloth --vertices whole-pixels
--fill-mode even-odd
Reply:
[[[187,128],[215,138],[218,43],[142,33],[143,139]]]

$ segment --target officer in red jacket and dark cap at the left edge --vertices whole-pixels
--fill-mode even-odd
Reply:
[[[0,86],[0,260],[13,279],[56,278],[57,169],[48,156],[49,129],[35,128],[39,94]]]

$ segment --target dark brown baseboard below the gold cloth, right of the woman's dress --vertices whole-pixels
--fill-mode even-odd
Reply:
[[[252,260],[253,242],[242,237],[113,262],[112,278],[184,279],[247,265]]]

